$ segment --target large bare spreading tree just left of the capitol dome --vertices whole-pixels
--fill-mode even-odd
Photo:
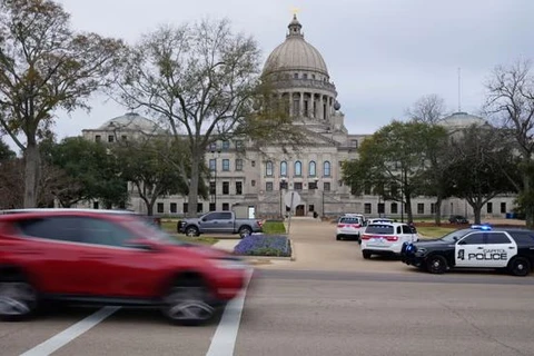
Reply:
[[[258,89],[260,56],[257,43],[233,33],[227,20],[160,27],[142,37],[127,62],[117,83],[119,100],[131,108],[145,108],[159,117],[175,138],[185,138],[190,161],[175,168],[188,185],[191,207],[198,202],[209,145],[249,131],[274,131],[288,123],[274,122],[277,116],[265,127],[247,121],[258,103],[255,98],[264,90]],[[188,214],[195,211],[189,209]]]

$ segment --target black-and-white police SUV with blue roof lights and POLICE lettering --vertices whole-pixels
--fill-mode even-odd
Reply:
[[[497,268],[514,276],[526,276],[534,266],[534,231],[475,225],[442,238],[404,244],[406,265],[432,274],[451,268]]]

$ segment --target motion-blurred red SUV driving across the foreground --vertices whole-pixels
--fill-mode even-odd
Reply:
[[[152,305],[174,323],[196,325],[234,298],[247,274],[240,259],[177,240],[134,214],[7,212],[0,216],[3,319],[24,318],[42,301],[61,300]]]

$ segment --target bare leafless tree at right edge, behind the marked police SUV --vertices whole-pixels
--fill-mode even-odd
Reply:
[[[507,137],[516,142],[521,158],[521,180],[510,178],[520,191],[526,225],[534,227],[534,76],[530,60],[497,66],[486,82],[485,110]]]

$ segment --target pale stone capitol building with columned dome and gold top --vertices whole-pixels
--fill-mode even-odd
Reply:
[[[197,212],[234,210],[240,207],[249,217],[279,217],[288,207],[287,192],[297,192],[298,205],[291,210],[296,216],[337,216],[343,212],[363,212],[366,216],[400,218],[399,201],[380,201],[365,191],[350,194],[350,187],[342,181],[343,161],[356,159],[358,145],[367,135],[349,134],[345,116],[336,100],[336,87],[320,52],[309,44],[301,32],[303,26],[294,16],[286,39],[267,58],[264,75],[276,75],[275,88],[283,100],[289,102],[290,115],[308,137],[306,147],[287,154],[280,147],[264,151],[247,150],[244,141],[219,141],[209,147],[206,164],[214,172],[208,200],[199,198]],[[466,112],[445,118],[442,125],[456,130],[485,120]],[[119,131],[117,128],[120,128]],[[99,128],[85,129],[87,139],[113,141],[120,137],[136,136],[136,131],[154,132],[155,123],[135,112],[113,118]],[[245,145],[245,146],[244,146]],[[245,149],[245,155],[241,152]],[[214,179],[215,178],[215,179]],[[130,187],[131,188],[131,187]],[[214,194],[214,191],[216,194]],[[434,197],[414,197],[414,218],[434,214]],[[514,207],[513,196],[498,196],[487,202],[482,218],[504,217]],[[98,201],[91,207],[102,208]],[[129,209],[146,212],[145,202],[130,189]],[[155,214],[177,215],[191,209],[187,197],[166,196],[157,200]],[[472,215],[464,200],[452,198],[442,204],[442,215]]]

